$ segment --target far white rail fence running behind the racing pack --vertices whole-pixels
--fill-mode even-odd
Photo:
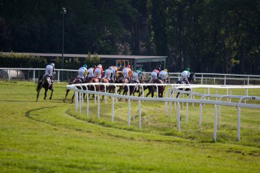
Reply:
[[[3,74],[5,74],[5,79],[8,80],[27,80],[36,81],[40,75],[44,74],[44,68],[0,68],[0,79],[4,79]],[[62,81],[62,71],[64,81],[69,81],[73,77],[77,77],[77,70],[69,69],[55,69],[55,81]],[[19,76],[20,72],[23,72],[23,76]],[[151,72],[144,72],[148,77],[151,77]],[[174,83],[181,78],[181,72],[169,72],[170,81],[168,83]],[[233,75],[233,74],[219,74],[219,73],[196,73],[196,81],[200,84],[222,84],[226,85],[231,83],[239,85],[249,85],[260,83],[260,75]]]

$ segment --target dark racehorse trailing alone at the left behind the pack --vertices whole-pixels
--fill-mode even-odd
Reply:
[[[36,102],[38,101],[40,90],[42,88],[44,88],[44,90],[45,90],[45,92],[44,92],[44,100],[47,97],[47,91],[51,90],[51,96],[50,96],[50,100],[51,100],[51,98],[53,96],[53,83],[51,83],[51,77],[49,77],[48,75],[46,75],[44,77],[43,76],[39,77],[39,79],[38,79],[38,85],[37,85],[37,88],[36,88],[36,91],[37,91]]]

